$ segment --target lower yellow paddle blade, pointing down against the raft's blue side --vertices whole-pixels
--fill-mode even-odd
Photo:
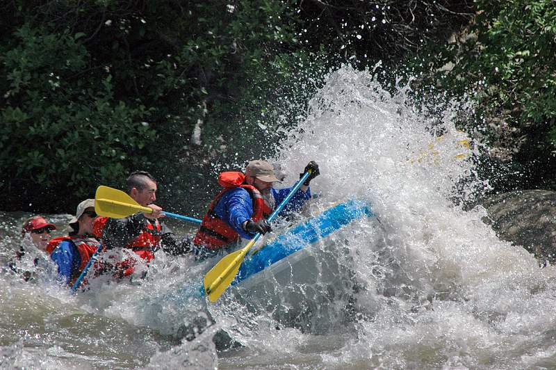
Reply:
[[[208,300],[216,302],[216,300],[222,296],[222,293],[229,287],[231,282],[234,281],[239,266],[241,266],[245,255],[254,245],[255,241],[256,239],[253,239],[247,246],[220,259],[218,264],[215,264],[213,268],[211,268],[211,271],[208,271],[208,273],[204,275],[204,292],[206,296],[208,296]]]

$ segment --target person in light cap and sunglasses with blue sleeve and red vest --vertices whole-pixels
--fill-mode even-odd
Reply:
[[[70,220],[69,235],[48,243],[47,252],[58,266],[58,277],[66,284],[73,284],[100,246],[100,240],[92,234],[95,218],[95,200],[83,200]]]

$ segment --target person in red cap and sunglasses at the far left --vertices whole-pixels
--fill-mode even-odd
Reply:
[[[6,270],[21,276],[25,281],[33,280],[37,274],[40,275],[36,271],[38,267],[48,270],[47,244],[52,230],[56,230],[56,225],[49,223],[42,216],[33,216],[25,220],[22,226],[22,244],[15,252],[15,259],[5,265]],[[31,246],[35,246],[36,250],[28,249]]]

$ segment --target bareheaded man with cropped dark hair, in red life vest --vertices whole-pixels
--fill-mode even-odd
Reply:
[[[189,251],[187,238],[178,238],[169,227],[159,221],[163,218],[158,207],[156,191],[158,184],[149,172],[135,171],[126,180],[127,193],[151,213],[137,213],[125,218],[99,217],[95,220],[95,234],[101,236],[107,250],[126,248],[133,250],[145,262],[154,258],[156,250],[163,249],[171,255],[182,255]],[[131,271],[133,272],[133,271]],[[129,275],[131,273],[124,273]]]

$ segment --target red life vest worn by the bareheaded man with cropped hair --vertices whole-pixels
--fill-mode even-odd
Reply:
[[[102,230],[104,225],[106,225],[106,221],[108,221],[108,217],[97,217],[93,225],[95,235],[102,236]],[[154,221],[154,225],[147,220],[147,224],[141,233],[124,248],[133,250],[133,252],[136,252],[136,255],[149,262],[154,258],[154,251],[160,246],[161,231],[162,226],[158,223],[158,220]]]

